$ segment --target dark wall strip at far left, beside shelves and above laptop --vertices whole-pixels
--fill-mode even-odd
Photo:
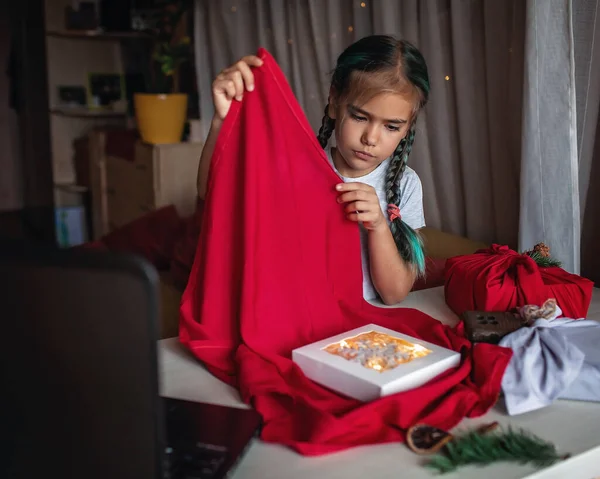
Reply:
[[[54,242],[44,0],[0,5],[0,185],[6,201],[0,213],[15,213],[0,215],[0,235],[8,224],[20,236]]]

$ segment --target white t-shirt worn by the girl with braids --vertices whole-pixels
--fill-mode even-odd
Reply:
[[[389,224],[390,219],[387,213],[387,200],[385,195],[385,175],[390,163],[390,158],[383,161],[371,173],[361,176],[360,178],[347,178],[340,175],[339,171],[337,171],[335,165],[333,164],[333,158],[331,157],[331,151],[329,148],[327,148],[327,158],[329,159],[329,163],[333,167],[334,171],[344,181],[344,183],[358,182],[375,188],[375,192],[379,198],[381,211],[383,211],[383,215]],[[423,214],[423,187],[421,186],[419,175],[417,175],[415,171],[408,166],[404,170],[402,180],[400,180],[400,192],[400,213],[402,214],[402,221],[415,230],[423,228],[425,226],[425,216]],[[360,244],[362,248],[363,297],[366,300],[372,300],[377,298],[378,294],[371,281],[367,231],[362,225],[360,225]]]

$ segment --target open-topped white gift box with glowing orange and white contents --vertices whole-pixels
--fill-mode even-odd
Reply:
[[[365,353],[363,349],[340,349],[340,347],[346,348],[348,344],[355,344],[355,341],[352,340],[363,333],[380,333],[390,336],[392,339],[407,341],[411,343],[411,346],[414,346],[414,348],[407,346],[407,350],[417,351],[415,353],[417,355],[426,355],[415,357],[407,362],[401,362],[390,369],[379,371],[375,368],[381,369],[380,365],[365,366],[361,362],[366,361],[366,357],[373,357],[372,350],[367,350]],[[364,336],[361,338],[364,338]],[[351,342],[348,343],[348,341]],[[396,344],[401,343],[401,341]],[[330,350],[338,352],[351,351],[348,354],[355,355],[355,357],[350,360],[346,359],[339,354],[325,350],[328,346]],[[384,347],[387,354],[386,357],[389,358],[390,354],[394,354],[393,352],[390,353],[394,349],[394,346],[386,347],[389,348],[385,349]],[[378,351],[381,352],[383,350]],[[410,353],[396,352],[395,354]],[[380,358],[381,354],[377,356]],[[397,333],[391,329],[375,324],[368,324],[346,333],[294,349],[292,351],[292,359],[302,372],[316,383],[360,401],[372,401],[382,396],[422,386],[444,371],[458,366],[460,363],[460,354],[427,341]],[[379,359],[377,360],[380,361]],[[389,365],[392,363],[385,364]]]

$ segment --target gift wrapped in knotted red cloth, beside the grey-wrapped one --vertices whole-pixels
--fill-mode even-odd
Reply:
[[[594,284],[561,268],[539,268],[527,255],[492,245],[446,263],[446,303],[456,314],[465,311],[509,311],[556,298],[563,315],[587,315]]]

